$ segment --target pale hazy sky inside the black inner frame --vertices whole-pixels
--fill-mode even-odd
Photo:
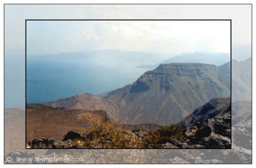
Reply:
[[[230,21],[27,21],[27,53],[229,52]]]

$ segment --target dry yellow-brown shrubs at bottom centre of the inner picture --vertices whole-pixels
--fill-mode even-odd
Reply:
[[[117,126],[110,121],[103,122],[94,118],[92,128],[86,138],[75,141],[79,148],[159,148],[172,139],[183,141],[183,129],[180,125],[162,126],[155,131],[132,133],[125,125]]]

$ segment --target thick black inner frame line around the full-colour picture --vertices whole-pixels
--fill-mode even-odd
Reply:
[[[26,130],[25,130],[25,148],[26,149],[29,149],[29,150],[33,150],[33,149],[52,149],[52,148],[27,148],[27,21],[152,21],[152,20],[155,20],[155,21],[230,21],[230,115],[232,117],[232,105],[231,105],[231,19],[26,19],[25,20],[25,60],[26,60],[26,63],[25,63],[25,91],[26,91],[26,94],[25,94],[25,101],[26,101],[26,105],[25,105],[25,114],[26,114],[26,117],[25,117],[25,123],[26,123]],[[232,123],[232,120],[230,122],[230,128],[231,128],[231,123]],[[231,132],[232,132],[232,129],[231,129]],[[170,149],[231,149],[232,148],[232,133],[230,134],[230,148],[54,148],[55,149],[117,149],[117,150],[122,150],[122,149],[165,149],[165,150],[170,150]]]

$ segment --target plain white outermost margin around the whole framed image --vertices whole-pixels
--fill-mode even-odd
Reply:
[[[45,167],[47,166],[46,164],[33,164],[33,165],[24,165],[24,164],[4,164],[3,163],[3,158],[4,158],[4,139],[3,139],[3,134],[4,134],[4,118],[3,118],[3,113],[4,113],[4,54],[3,54],[3,51],[4,51],[4,25],[3,25],[3,22],[4,22],[4,4],[253,4],[252,7],[256,4],[254,3],[252,0],[244,0],[244,1],[241,1],[241,0],[234,0],[234,1],[228,1],[228,0],[215,0],[215,1],[189,1],[189,0],[180,0],[180,1],[168,1],[168,0],[147,0],[147,1],[139,1],[139,0],[130,0],[130,1],[127,1],[127,0],[123,0],[123,1],[118,1],[118,0],[109,0],[109,1],[104,1],[104,0],[87,0],[87,1],[82,1],[82,0],[37,0],[37,1],[31,1],[31,0],[28,0],[28,1],[18,1],[18,0],[2,0],[1,1],[1,11],[0,11],[0,14],[1,14],[1,18],[0,18],[0,22],[1,22],[1,27],[0,27],[0,30],[1,30],[1,33],[0,33],[0,37],[1,37],[1,44],[0,44],[0,54],[1,54],[1,61],[0,61],[0,65],[1,65],[1,68],[0,68],[0,80],[1,80],[1,90],[0,90],[0,93],[1,93],[1,97],[0,97],[0,105],[1,105],[1,115],[0,115],[0,123],[1,123],[1,130],[0,130],[0,146],[1,146],[1,151],[0,151],[0,163],[1,163],[1,166],[4,166],[4,167]],[[252,13],[253,14],[253,21],[252,21],[252,27],[253,29],[255,30],[255,12]],[[252,50],[253,50],[253,54],[255,53],[255,33],[253,32],[253,43],[252,43]],[[255,65],[255,59],[252,59],[252,65]],[[252,66],[253,67],[253,66]],[[252,68],[252,74],[256,74],[256,69],[255,68]],[[252,87],[255,88],[256,84],[255,84],[255,78],[252,78]],[[255,84],[255,85],[254,85]],[[253,97],[253,102],[252,104],[255,104],[255,89],[253,89],[253,92],[252,92],[252,97]],[[256,117],[256,114],[254,114],[254,107],[252,107],[252,120],[253,121],[256,121],[255,117]],[[255,139],[255,135],[256,135],[256,131],[255,131],[255,128],[254,128],[254,124],[252,123],[252,126],[253,126],[253,132],[252,132],[252,139],[254,140]],[[255,144],[252,145],[253,147],[253,151],[255,151]],[[254,154],[254,152],[252,152]],[[252,156],[252,163],[255,163],[255,156],[253,155]],[[3,165],[4,164],[4,165]],[[218,164],[218,165],[215,165],[215,164],[172,164],[172,165],[169,165],[169,164],[165,164],[165,165],[162,165],[162,164],[150,164],[150,165],[145,165],[145,164],[140,164],[140,165],[129,165],[129,164],[125,164],[125,165],[120,165],[120,164],[117,164],[117,165],[102,165],[102,164],[93,164],[93,165],[72,165],[72,166],[81,166],[81,167],[110,167],[110,168],[113,168],[113,167],[116,167],[116,166],[122,166],[122,167],[131,167],[131,166],[134,166],[134,167],[170,167],[170,166],[179,166],[179,167],[191,167],[191,168],[194,168],[194,167],[227,167],[227,166],[232,166],[232,167],[251,167],[253,164],[246,164],[246,165],[239,165],[239,164],[234,164],[234,165],[230,165],[230,164]],[[70,165],[68,164],[57,164],[57,165],[49,165],[49,166],[54,166],[54,167],[70,167]]]

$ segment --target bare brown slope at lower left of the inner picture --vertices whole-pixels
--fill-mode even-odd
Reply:
[[[41,104],[27,104],[26,108],[26,141],[37,137],[62,140],[69,131],[88,133],[93,122],[108,120],[102,110],[71,110]]]

